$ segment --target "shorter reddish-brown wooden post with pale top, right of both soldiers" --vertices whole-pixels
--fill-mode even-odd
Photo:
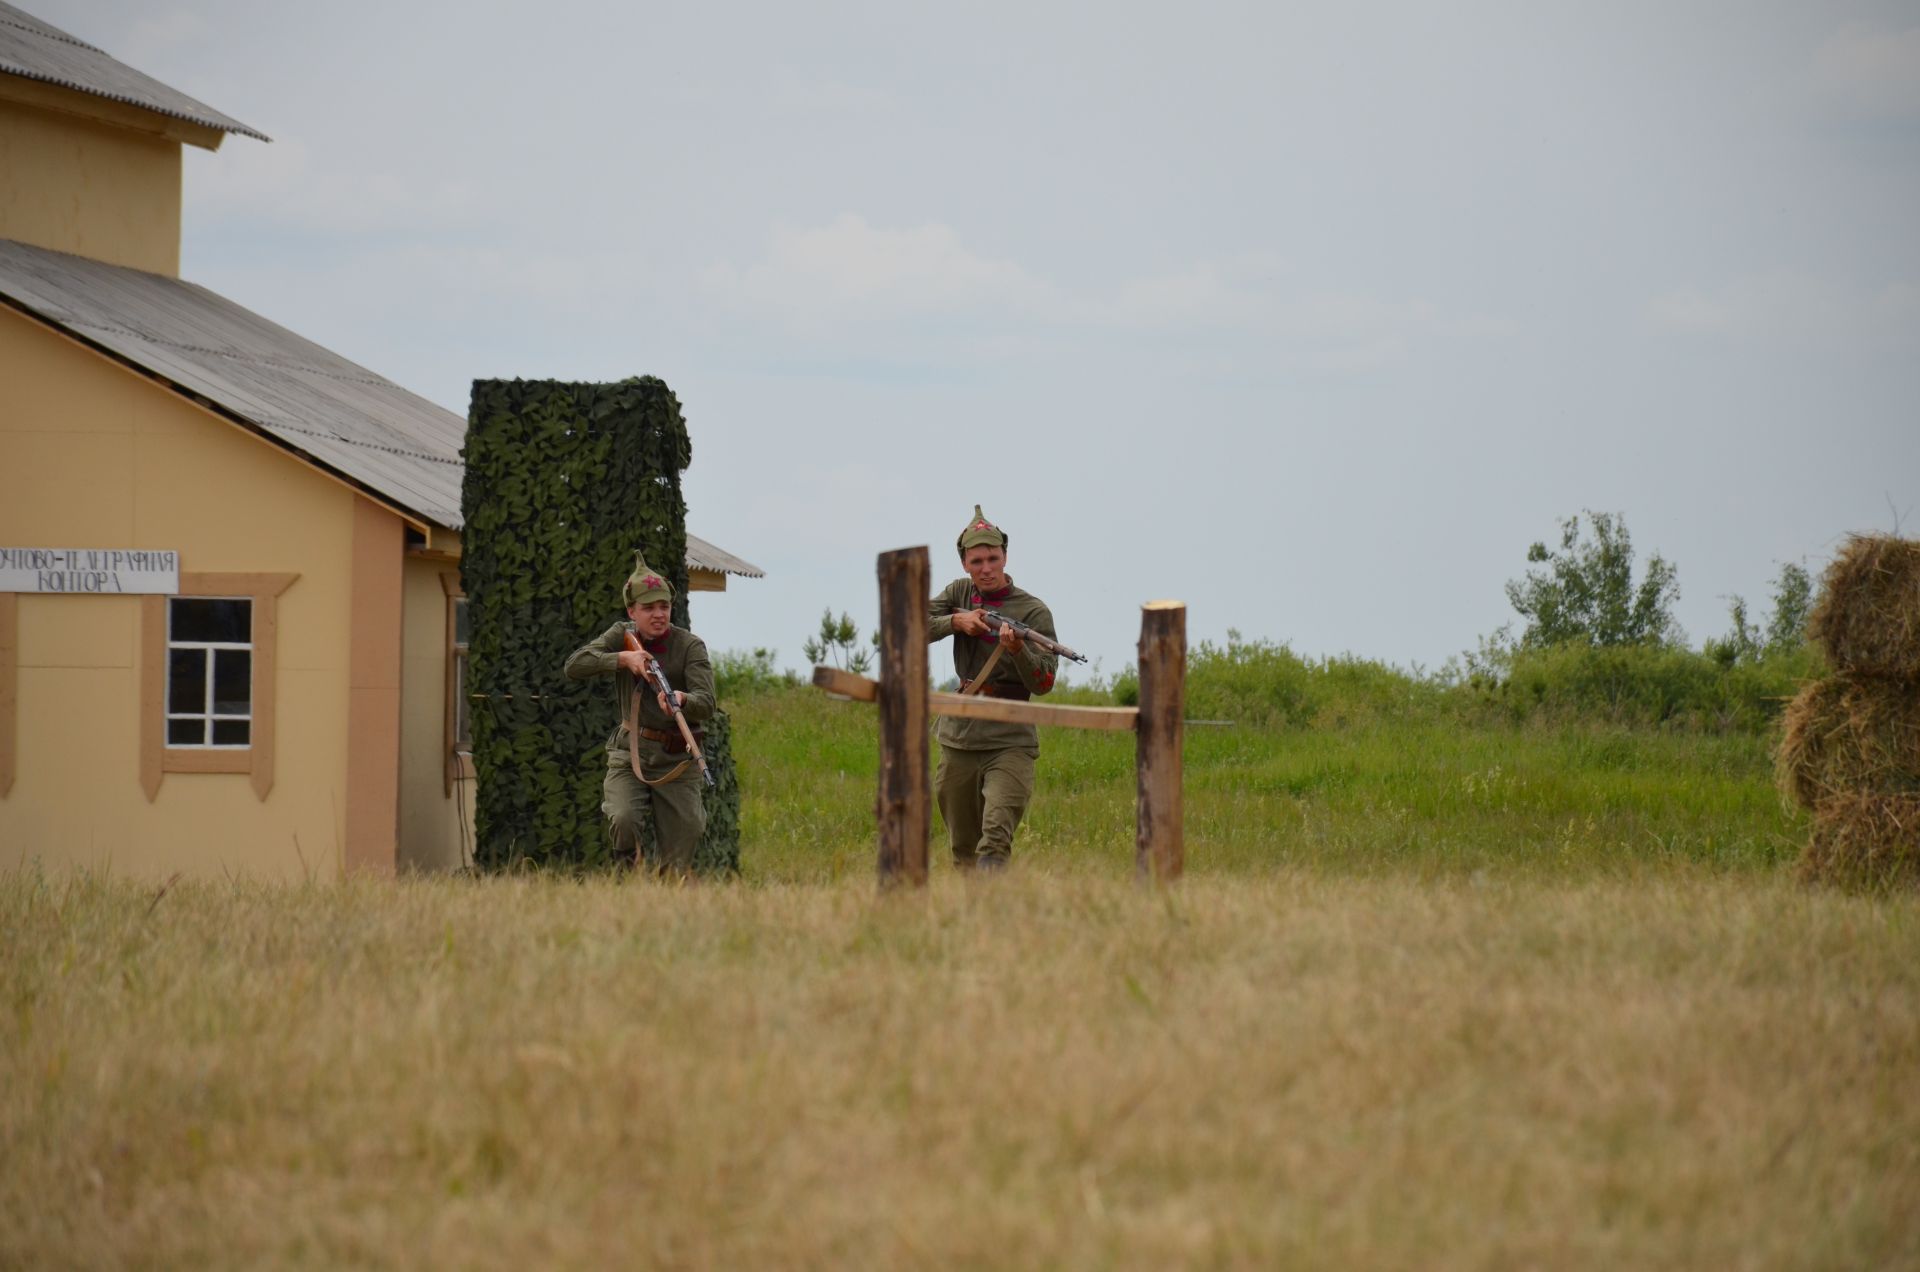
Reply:
[[[1187,734],[1187,603],[1140,607],[1139,815],[1133,861],[1140,878],[1173,882],[1187,867],[1181,828],[1181,742]]]

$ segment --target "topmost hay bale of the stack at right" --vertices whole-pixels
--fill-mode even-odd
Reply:
[[[1855,534],[1807,619],[1834,667],[1920,680],[1920,542]]]

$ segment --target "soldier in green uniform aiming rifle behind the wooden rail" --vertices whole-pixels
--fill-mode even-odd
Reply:
[[[927,640],[954,642],[954,673],[962,692],[1027,699],[1054,688],[1060,659],[1002,626],[995,636],[987,615],[1018,619],[1052,638],[1054,615],[1041,598],[1014,586],[1006,575],[1006,530],[987,521],[979,505],[960,530],[966,578],[947,584],[927,605]],[[1033,761],[1041,732],[1033,724],[941,717],[935,732],[941,763],[933,788],[947,819],[954,865],[998,870],[1014,853],[1014,830],[1033,797]]]

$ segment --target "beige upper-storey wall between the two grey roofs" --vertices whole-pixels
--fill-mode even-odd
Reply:
[[[0,100],[0,238],[180,273],[180,142]]]

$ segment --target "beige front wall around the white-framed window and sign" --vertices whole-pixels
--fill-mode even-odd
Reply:
[[[150,803],[140,601],[17,596],[0,867],[38,859],[148,878],[332,878],[346,867],[359,503],[273,444],[0,309],[0,546],[171,548],[182,571],[298,573],[278,598],[265,799],[248,774],[165,772]]]

